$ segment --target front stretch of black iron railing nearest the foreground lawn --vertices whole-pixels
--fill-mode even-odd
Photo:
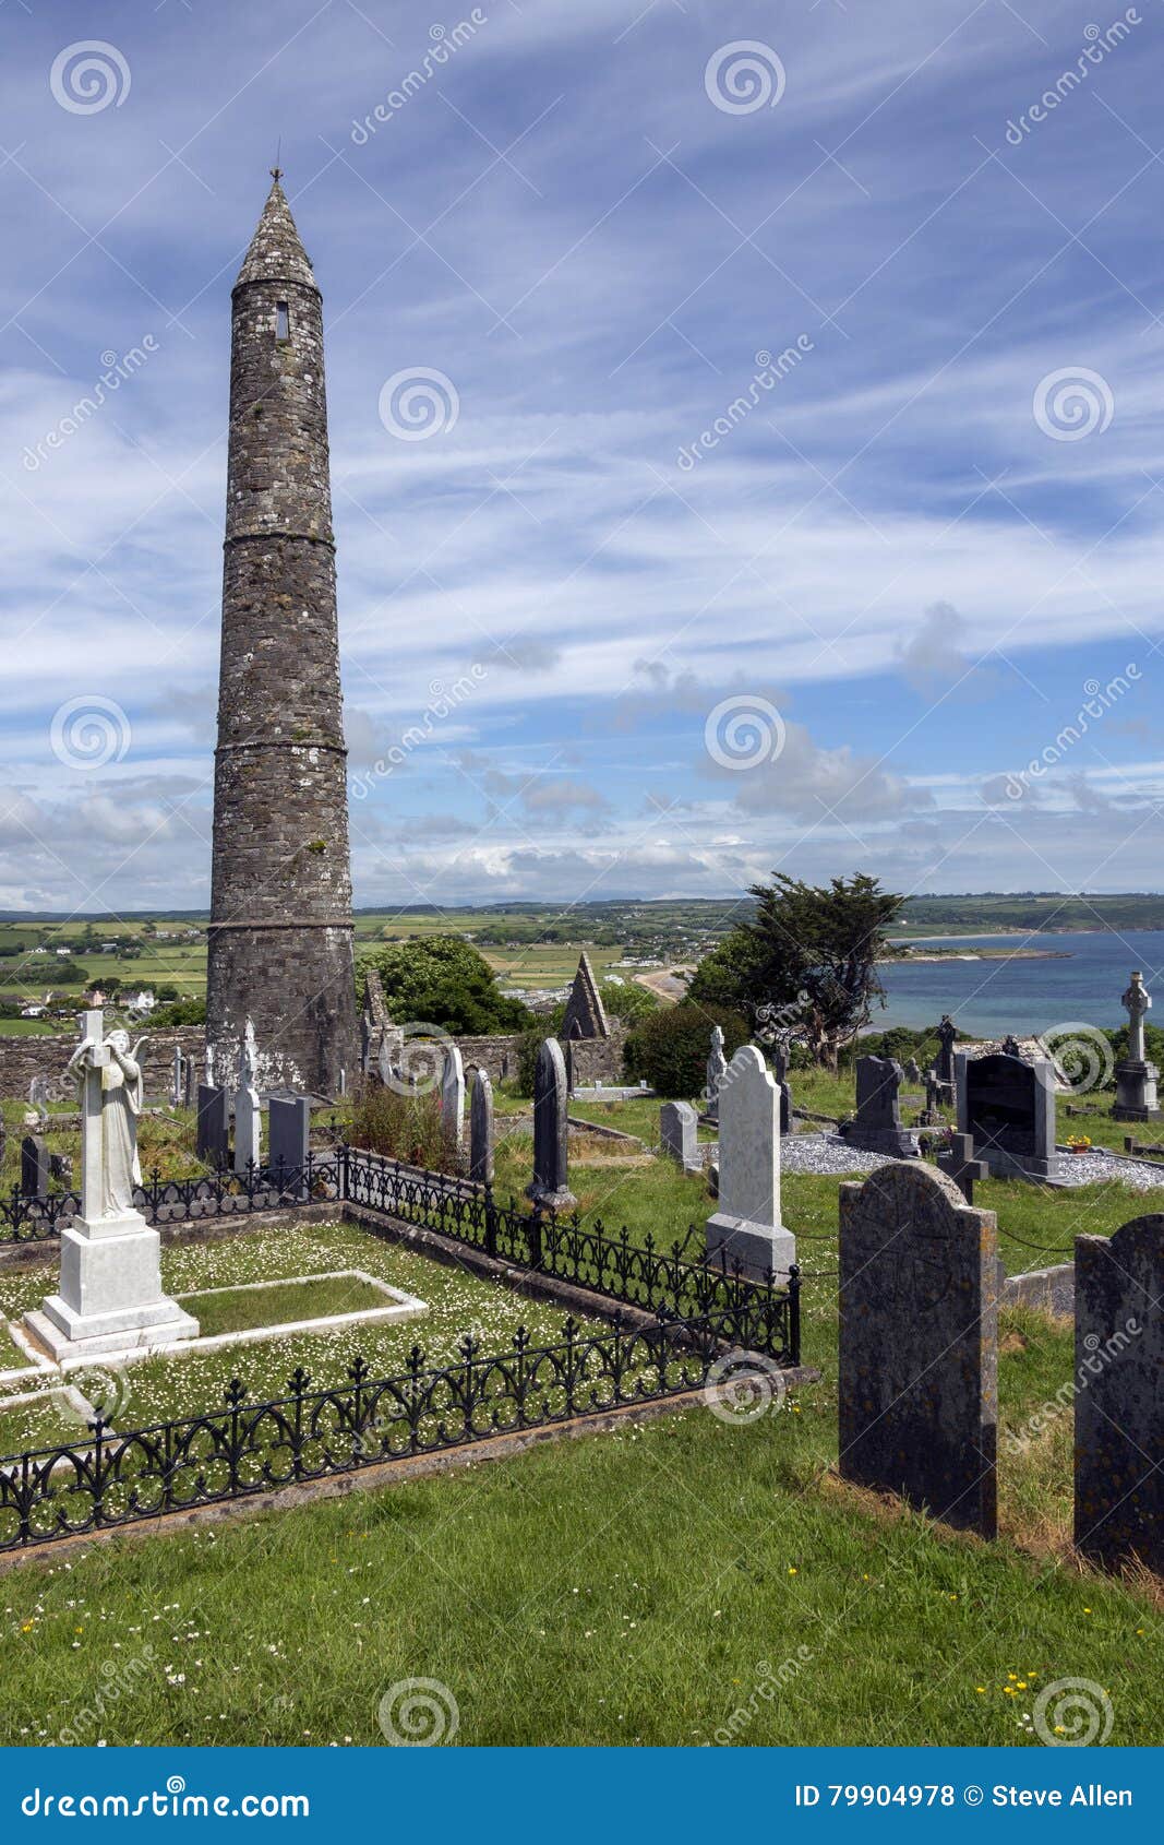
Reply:
[[[725,1351],[775,1373],[786,1358],[766,1349],[769,1330],[742,1304],[636,1327],[616,1317],[603,1332],[570,1319],[555,1345],[518,1330],[509,1352],[485,1354],[467,1338],[439,1369],[419,1347],[398,1376],[373,1378],[358,1360],[332,1389],[299,1369],[273,1402],[249,1402],[236,1378],[221,1410],[153,1428],[114,1432],[98,1415],[76,1446],[0,1461],[0,1552],[679,1397],[714,1382]]]

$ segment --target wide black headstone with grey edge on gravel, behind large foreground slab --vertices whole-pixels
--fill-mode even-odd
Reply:
[[[1046,1057],[1027,1063],[996,1052],[957,1057],[957,1131],[996,1177],[1055,1181],[1055,1072]]]

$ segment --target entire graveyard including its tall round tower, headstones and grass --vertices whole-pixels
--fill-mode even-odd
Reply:
[[[74,1740],[113,1624],[148,1670],[94,1742],[391,1742],[415,1677],[481,1745],[1026,1745],[1079,1677],[1158,1738],[1149,980],[1079,1079],[954,1000],[876,1031],[906,899],[865,871],[773,871],[714,939],[640,915],[642,978],[537,941],[550,993],[362,935],[323,306],[271,173],[199,1017],[105,996],[94,930],[70,1030],[0,1055],[0,1736]]]

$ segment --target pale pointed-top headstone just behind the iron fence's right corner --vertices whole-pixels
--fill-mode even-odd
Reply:
[[[780,1221],[780,1087],[754,1044],[736,1052],[719,1085],[719,1196],[707,1253],[758,1279],[788,1275],[797,1260]]]

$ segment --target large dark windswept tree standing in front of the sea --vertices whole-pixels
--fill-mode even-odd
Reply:
[[[730,1006],[756,1028],[788,1026],[815,1063],[836,1070],[839,1046],[884,998],[878,961],[902,952],[885,932],[904,897],[865,873],[823,886],[777,873],[771,884],[753,884],[751,895],[754,921],[699,963],[690,994]]]

